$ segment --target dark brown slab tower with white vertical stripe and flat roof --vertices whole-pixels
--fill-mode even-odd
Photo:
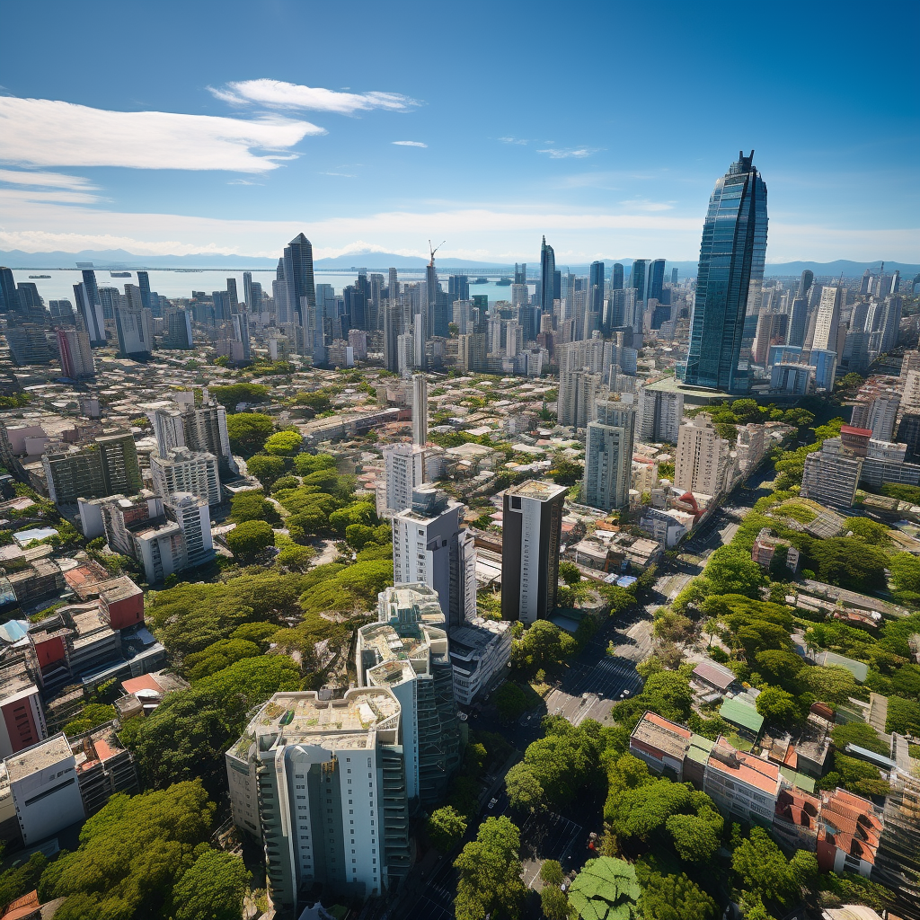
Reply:
[[[530,480],[506,489],[501,521],[501,618],[534,623],[556,607],[566,487]]]

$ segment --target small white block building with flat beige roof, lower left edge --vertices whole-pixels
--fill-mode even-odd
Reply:
[[[76,758],[63,732],[7,757],[4,765],[25,845],[86,817]]]

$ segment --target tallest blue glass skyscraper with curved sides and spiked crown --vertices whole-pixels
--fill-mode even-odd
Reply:
[[[684,382],[747,392],[742,336],[752,282],[766,258],[766,185],[750,156],[739,153],[709,199],[700,245],[696,300]]]

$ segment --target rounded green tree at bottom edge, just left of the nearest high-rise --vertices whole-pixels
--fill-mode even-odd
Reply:
[[[241,857],[205,850],[173,889],[176,920],[238,920],[248,881]]]

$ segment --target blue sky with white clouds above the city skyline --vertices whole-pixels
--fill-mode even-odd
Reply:
[[[0,0],[0,249],[920,261],[914,0]],[[410,142],[410,143],[399,143]]]

